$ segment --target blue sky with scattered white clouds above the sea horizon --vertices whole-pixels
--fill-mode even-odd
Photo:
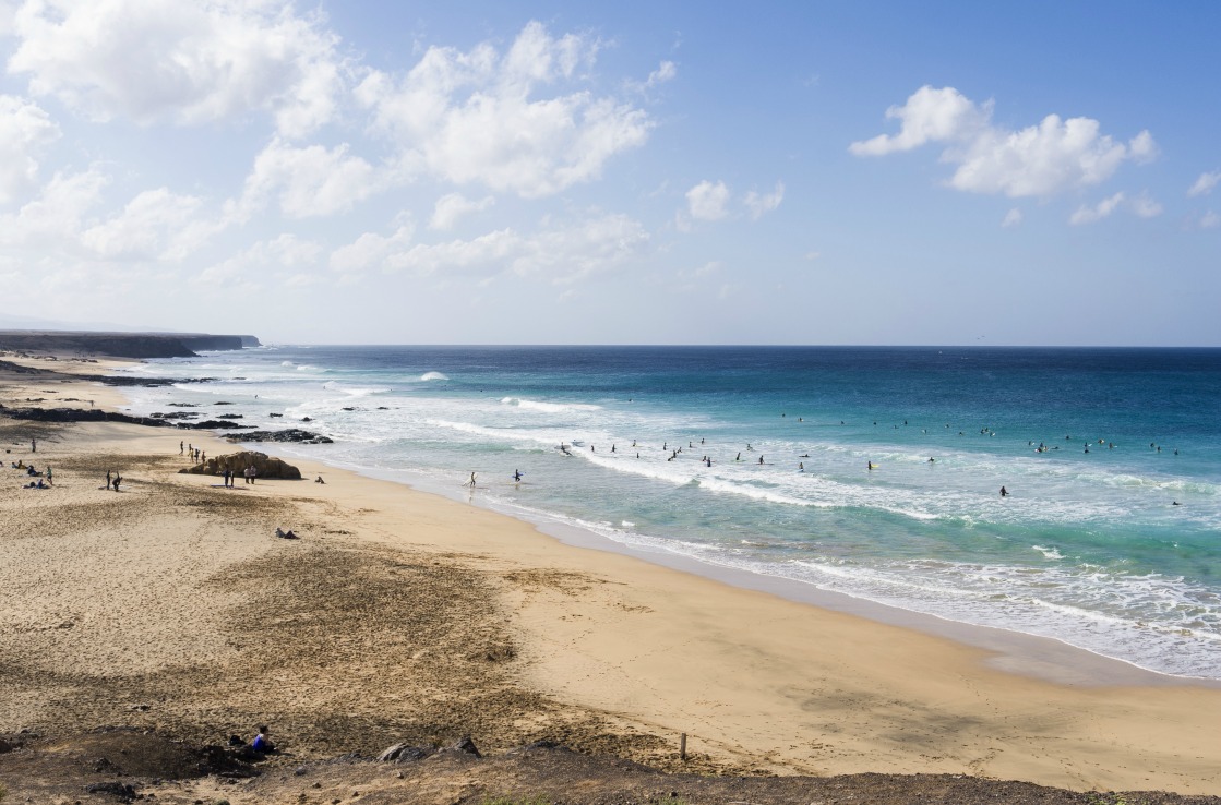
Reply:
[[[0,0],[0,326],[1219,346],[1217,30],[1126,0]]]

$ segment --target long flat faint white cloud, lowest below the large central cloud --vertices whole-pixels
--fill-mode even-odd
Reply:
[[[488,278],[509,271],[554,283],[575,282],[640,254],[648,233],[623,215],[591,216],[568,226],[545,222],[523,234],[503,228],[471,239],[413,243],[403,227],[391,237],[366,233],[331,255],[338,271],[381,268],[418,276]]]

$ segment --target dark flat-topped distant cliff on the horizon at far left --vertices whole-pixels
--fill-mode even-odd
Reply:
[[[190,357],[197,350],[259,346],[254,335],[206,333],[85,333],[56,331],[0,331],[0,350],[112,357]]]

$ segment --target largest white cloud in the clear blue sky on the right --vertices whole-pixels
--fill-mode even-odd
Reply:
[[[1154,159],[1156,143],[1140,132],[1127,144],[1100,133],[1088,117],[1048,115],[1037,126],[1009,131],[991,123],[993,102],[976,104],[945,87],[922,87],[886,117],[901,121],[895,135],[852,143],[857,156],[884,156],[927,143],[944,145],[941,161],[956,166],[947,184],[1011,198],[1050,196],[1109,179],[1126,160]]]

